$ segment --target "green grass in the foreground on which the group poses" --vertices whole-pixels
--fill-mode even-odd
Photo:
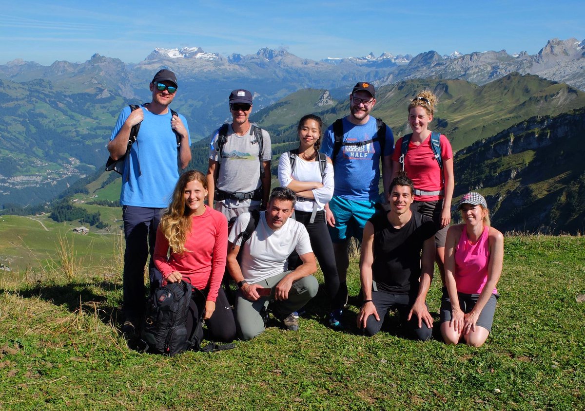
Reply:
[[[437,279],[428,298],[436,320]],[[234,350],[167,358],[131,351],[119,336],[119,272],[3,288],[0,409],[585,407],[585,303],[576,300],[585,293],[585,237],[507,237],[493,333],[480,348],[439,336],[418,343],[392,329],[360,336],[355,297],[349,329],[333,331],[320,292],[297,333],[274,326]]]

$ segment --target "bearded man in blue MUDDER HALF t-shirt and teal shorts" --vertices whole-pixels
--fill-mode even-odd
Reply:
[[[370,116],[374,105],[374,85],[366,81],[357,83],[349,95],[349,115],[338,120],[343,124],[339,150],[335,149],[333,125],[326,130],[321,147],[322,153],[333,161],[335,189],[333,198],[325,206],[325,213],[339,273],[339,291],[345,290],[346,296],[349,237],[362,241],[363,227],[374,214],[374,204],[380,199],[380,163],[384,190],[390,185],[392,175],[394,136],[390,127],[384,125],[386,137],[384,153],[381,153],[377,121]]]

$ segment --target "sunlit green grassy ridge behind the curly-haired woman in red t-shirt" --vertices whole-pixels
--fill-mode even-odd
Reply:
[[[431,89],[439,98],[430,128],[446,136],[453,150],[486,139],[532,116],[558,115],[585,106],[585,93],[535,75],[517,73],[483,86],[462,80],[409,80],[382,87],[374,112],[395,136],[410,133],[408,104]]]

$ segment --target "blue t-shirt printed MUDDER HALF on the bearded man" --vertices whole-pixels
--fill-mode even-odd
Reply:
[[[376,138],[378,126],[376,119],[370,116],[364,125],[350,123],[343,118],[343,141],[354,143]],[[333,125],[325,131],[321,152],[331,157],[335,134]],[[386,126],[386,145],[384,156],[391,156],[394,151],[394,135],[390,127]],[[335,160],[333,160],[335,175],[335,190],[333,195],[351,201],[378,201],[378,181],[380,181],[380,143],[365,144],[364,146],[341,146]]]

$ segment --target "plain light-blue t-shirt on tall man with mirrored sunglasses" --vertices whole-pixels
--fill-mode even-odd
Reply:
[[[136,142],[132,144],[122,174],[122,205],[165,208],[179,178],[177,137],[171,129],[171,110],[156,115],[140,106],[144,120]],[[110,140],[118,134],[130,115],[126,106],[112,131]],[[183,115],[179,115],[187,132],[189,127]],[[191,146],[191,136],[189,136]]]

